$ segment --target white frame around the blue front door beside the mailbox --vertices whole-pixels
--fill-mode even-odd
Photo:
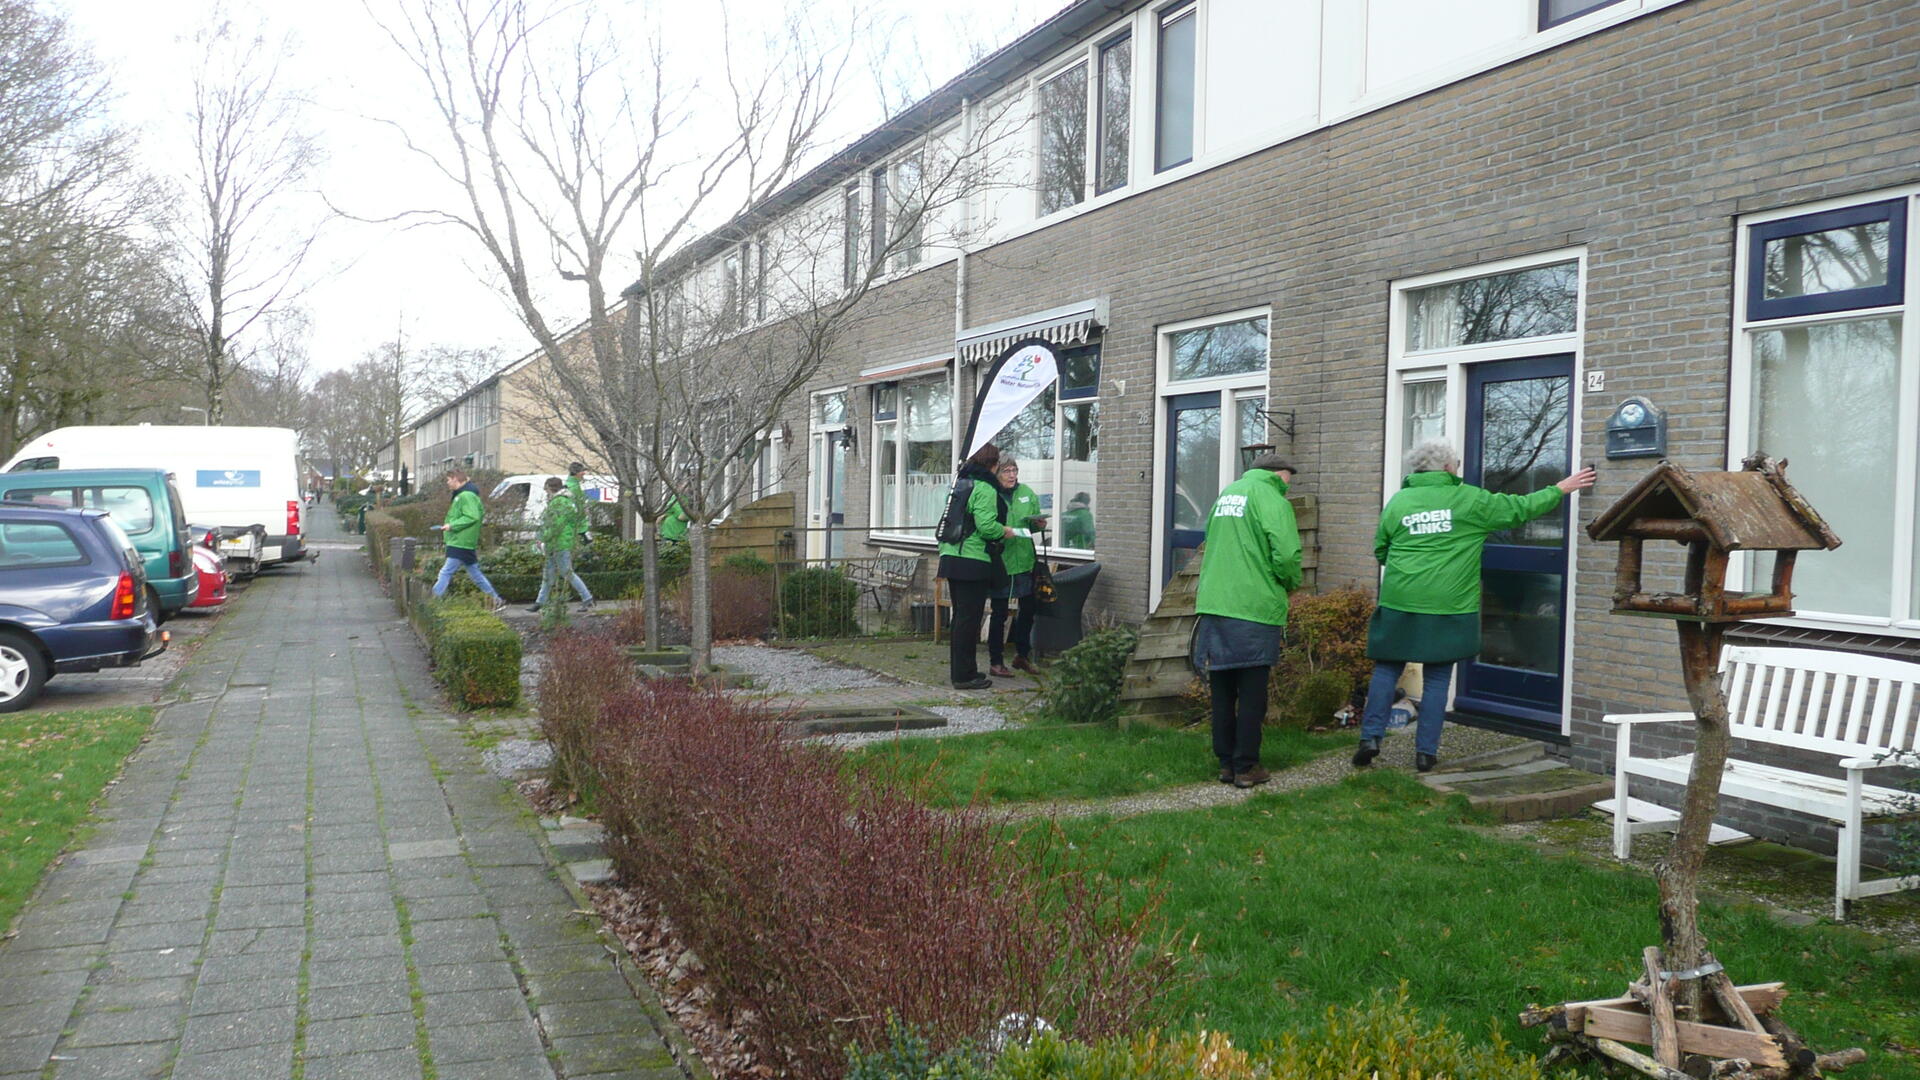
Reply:
[[[1452,284],[1457,281],[1549,267],[1567,261],[1574,263],[1574,273],[1578,275],[1578,300],[1574,302],[1574,321],[1571,332],[1471,346],[1428,348],[1419,352],[1407,350],[1411,292],[1430,288],[1434,284]],[[1586,407],[1586,248],[1561,248],[1392,282],[1390,302],[1386,306],[1386,430],[1380,432],[1380,446],[1384,450],[1380,457],[1382,507],[1386,505],[1386,500],[1394,498],[1394,492],[1400,490],[1400,482],[1404,480],[1400,463],[1409,450],[1409,446],[1405,446],[1405,386],[1409,382],[1446,380],[1444,438],[1453,444],[1453,450],[1465,452],[1467,369],[1476,363],[1528,359],[1536,356],[1572,356],[1572,404],[1569,405],[1569,415],[1572,423],[1572,454],[1578,463],[1578,455],[1584,452],[1582,438],[1586,436],[1586,425],[1582,423],[1582,409]],[[1567,642],[1563,642],[1561,655],[1561,734],[1572,734],[1572,690],[1576,682],[1572,676],[1572,657],[1580,636],[1580,621],[1576,617],[1580,607],[1580,530],[1572,527],[1580,521],[1580,496],[1574,494],[1571,500],[1572,502],[1567,511]],[[1455,688],[1457,686],[1459,680],[1455,680]]]

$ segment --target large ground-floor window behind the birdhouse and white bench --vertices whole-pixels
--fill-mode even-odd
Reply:
[[[1920,371],[1903,263],[1912,194],[1741,231],[1734,444],[1789,461],[1788,479],[1845,540],[1793,569],[1801,615],[1920,630]],[[1764,588],[1768,559],[1749,559]]]

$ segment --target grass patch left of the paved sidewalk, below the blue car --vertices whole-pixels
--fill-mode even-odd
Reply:
[[[0,715],[0,930],[152,723],[146,705]]]

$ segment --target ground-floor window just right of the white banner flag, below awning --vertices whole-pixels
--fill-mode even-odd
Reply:
[[[1020,411],[995,446],[1020,461],[1020,482],[1041,498],[1054,548],[1091,552],[1098,536],[1100,346],[1060,352],[1060,382]]]

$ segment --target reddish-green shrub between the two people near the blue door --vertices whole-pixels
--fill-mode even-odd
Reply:
[[[1369,619],[1373,619],[1373,598],[1357,588],[1294,594],[1286,611],[1281,659],[1267,680],[1269,721],[1323,726],[1332,721],[1340,705],[1367,692],[1367,682],[1373,678],[1373,661],[1367,659]],[[1315,678],[1319,673],[1338,673],[1344,678]],[[1344,696],[1332,700],[1331,709],[1325,707],[1332,688],[1342,684]]]

